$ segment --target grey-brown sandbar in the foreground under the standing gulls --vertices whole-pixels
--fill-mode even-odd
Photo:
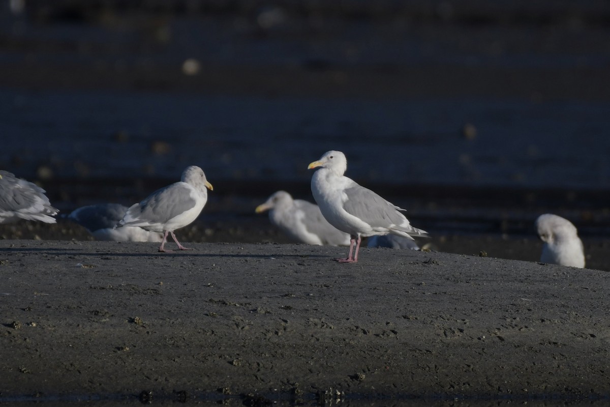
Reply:
[[[2,240],[0,400],[610,395],[606,272],[190,246]]]

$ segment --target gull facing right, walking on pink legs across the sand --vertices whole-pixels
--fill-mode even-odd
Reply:
[[[178,242],[174,230],[187,226],[199,216],[207,202],[206,187],[213,189],[203,170],[191,165],[182,173],[181,181],[132,205],[118,226],[139,226],[147,231],[163,232],[159,251],[171,251],[164,248],[168,233],[180,250],[190,250]]]

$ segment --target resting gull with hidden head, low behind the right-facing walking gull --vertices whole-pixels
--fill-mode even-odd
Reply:
[[[74,209],[68,215],[72,222],[83,226],[97,240],[112,242],[160,242],[163,234],[149,232],[137,226],[115,228],[127,212],[121,204],[104,203],[87,205]]]

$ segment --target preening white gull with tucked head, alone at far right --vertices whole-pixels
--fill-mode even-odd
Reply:
[[[572,222],[558,215],[540,215],[536,219],[536,232],[544,242],[541,262],[584,267],[583,242]]]

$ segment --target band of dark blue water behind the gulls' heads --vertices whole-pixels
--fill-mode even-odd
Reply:
[[[307,182],[328,149],[363,182],[610,186],[610,103],[2,90],[0,160],[26,177]],[[462,134],[465,124],[476,135]],[[221,185],[219,185],[221,186]]]

